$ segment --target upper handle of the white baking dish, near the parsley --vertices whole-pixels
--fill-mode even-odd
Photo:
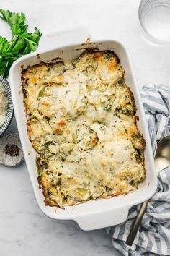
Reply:
[[[40,39],[37,53],[41,51],[53,50],[56,47],[85,43],[89,37],[89,30],[86,30],[84,27],[63,31],[60,33],[53,33],[50,35],[43,35]]]

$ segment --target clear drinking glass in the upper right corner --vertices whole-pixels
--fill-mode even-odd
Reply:
[[[144,35],[152,43],[170,43],[170,0],[142,0],[138,10]]]

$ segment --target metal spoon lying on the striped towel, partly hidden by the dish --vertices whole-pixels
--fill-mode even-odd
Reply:
[[[155,153],[155,165],[157,174],[159,174],[160,171],[164,170],[164,168],[170,165],[170,135],[167,135],[158,142]],[[130,246],[133,244],[135,236],[138,232],[138,228],[143,219],[143,215],[146,212],[148,202],[149,200],[142,203],[140,210],[138,211],[138,216],[135,218],[128,239],[126,240],[126,244]]]

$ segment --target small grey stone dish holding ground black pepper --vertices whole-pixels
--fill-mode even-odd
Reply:
[[[0,138],[0,163],[5,166],[18,166],[24,160],[22,145],[17,133]]]

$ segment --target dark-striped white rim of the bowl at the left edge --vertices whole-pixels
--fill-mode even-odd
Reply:
[[[12,104],[12,95],[11,95],[9,82],[1,74],[0,74],[0,82],[4,86],[6,96],[8,98],[6,120],[4,121],[4,124],[2,124],[2,126],[0,127],[0,136],[1,136],[6,131],[6,129],[8,129],[9,124],[11,124],[12,118],[14,116],[14,109]]]

